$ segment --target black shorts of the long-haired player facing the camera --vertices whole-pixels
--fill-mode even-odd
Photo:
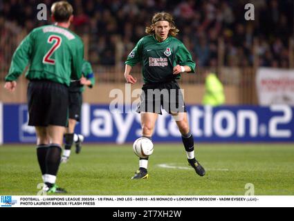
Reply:
[[[143,86],[137,112],[161,115],[162,108],[169,114],[187,112],[178,82],[169,81]]]

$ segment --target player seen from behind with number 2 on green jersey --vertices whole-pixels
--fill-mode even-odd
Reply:
[[[13,91],[16,79],[28,64],[28,125],[37,133],[37,160],[42,171],[44,191],[65,193],[56,184],[67,122],[68,86],[82,77],[84,44],[68,30],[73,8],[66,1],[51,7],[54,25],[32,30],[12,57],[5,88]]]

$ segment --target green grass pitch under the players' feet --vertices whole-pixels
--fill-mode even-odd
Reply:
[[[207,173],[187,166],[181,144],[156,144],[149,179],[131,180],[138,157],[131,145],[84,145],[61,164],[57,184],[68,195],[294,195],[293,144],[199,144]],[[33,145],[0,146],[0,195],[37,195],[42,177]]]

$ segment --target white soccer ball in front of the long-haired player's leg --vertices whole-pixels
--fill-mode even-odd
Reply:
[[[147,158],[154,151],[153,143],[146,137],[140,137],[134,142],[133,151],[141,158]]]

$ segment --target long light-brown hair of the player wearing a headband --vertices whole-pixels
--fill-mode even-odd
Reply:
[[[172,17],[172,15],[170,15],[167,12],[158,12],[152,17],[151,26],[146,27],[146,30],[145,30],[147,34],[154,35],[155,33],[154,26],[157,21],[168,21],[170,26],[169,35],[172,35],[172,37],[176,37],[176,35],[178,35],[179,30],[178,28],[176,28],[174,24],[174,18]]]

